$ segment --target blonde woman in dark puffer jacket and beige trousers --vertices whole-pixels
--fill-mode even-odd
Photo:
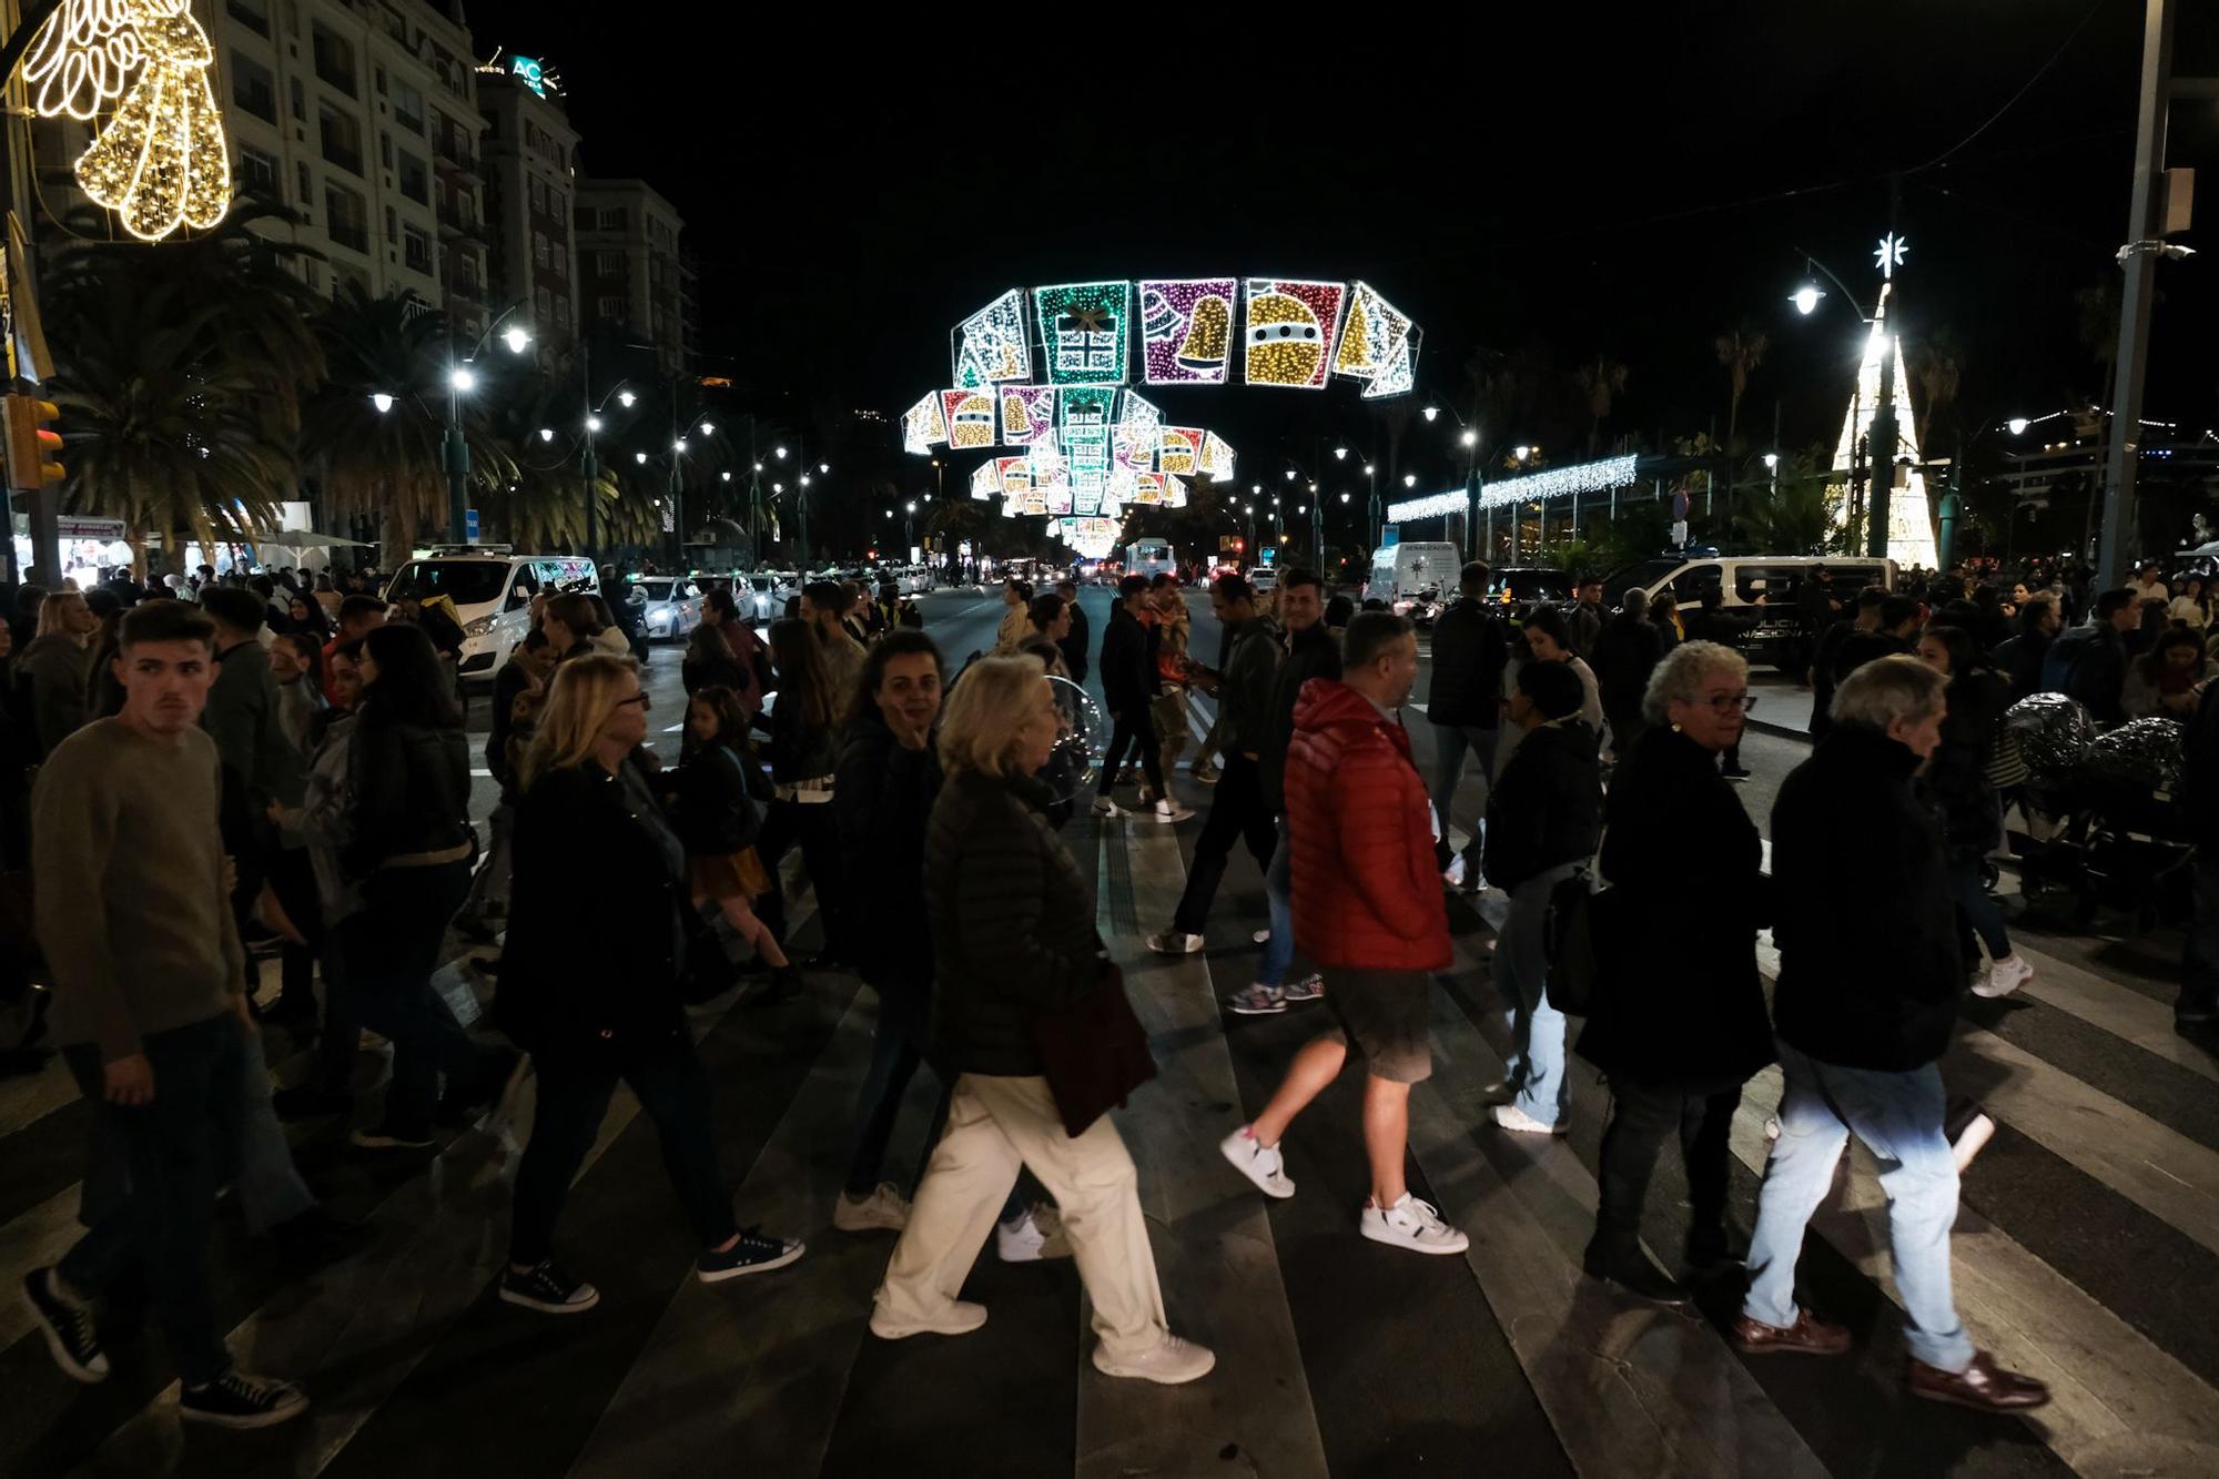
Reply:
[[[1132,1155],[1107,1115],[1067,1130],[1034,1046],[1043,1017],[1123,990],[1094,930],[1094,891],[1050,828],[1052,797],[1034,777],[1063,728],[1054,693],[1036,660],[987,657],[963,673],[945,713],[945,782],[925,835],[930,1057],[956,1079],[870,1328],[903,1339],[985,1324],[985,1308],[956,1292],[1030,1166],[1063,1208],[1094,1304],[1096,1370],[1194,1381],[1216,1357],[1165,1321]]]

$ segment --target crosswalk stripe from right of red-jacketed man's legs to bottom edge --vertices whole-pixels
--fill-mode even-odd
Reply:
[[[1573,1466],[1587,1475],[1824,1475],[1709,1326],[1607,1295],[1580,1272],[1564,1228],[1542,1226],[1536,1193],[1496,1170],[1480,1150],[1480,1137],[1496,1135],[1480,1086],[1500,1073],[1478,1028],[1433,990],[1433,1077],[1411,1093],[1411,1155],[1442,1215],[1471,1235],[1465,1261]],[[1595,1181],[1571,1148],[1551,1137],[1533,1161],[1591,1224]]]

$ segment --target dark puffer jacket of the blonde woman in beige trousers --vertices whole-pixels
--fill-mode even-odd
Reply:
[[[1032,777],[961,771],[932,804],[930,1057],[943,1075],[1038,1075],[1030,1017],[1103,977],[1094,888],[1050,828],[1047,799]]]

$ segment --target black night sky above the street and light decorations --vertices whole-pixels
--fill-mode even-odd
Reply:
[[[1465,27],[1382,13],[1276,36],[1101,11],[1116,24],[990,44],[967,40],[987,11],[919,11],[894,36],[845,7],[786,9],[777,29],[741,7],[655,9],[683,27],[637,20],[646,7],[468,4],[482,49],[559,67],[588,171],[644,175],[686,213],[703,371],[766,404],[899,415],[945,384],[950,324],[1007,286],[1269,273],[1378,284],[1425,326],[1420,402],[1469,404],[1480,349],[1553,384],[1607,351],[1631,378],[1602,435],[1644,444],[1724,431],[1713,338],[1746,322],[1771,353],[1744,446],[1771,442],[1775,402],[1786,446],[1831,442],[1860,329],[1840,293],[1808,320],[1786,293],[1804,253],[1877,286],[1891,171],[1906,346],[1962,346],[1946,420],[2104,391],[2075,289],[2119,278],[2137,0],[1487,7]],[[2177,71],[2219,73],[2219,7],[2181,9]],[[2206,426],[2219,104],[2175,104],[2170,162],[2203,167],[2181,240],[2206,255],[2159,269],[2148,415]],[[1556,460],[1578,460],[1587,415],[1558,395],[1487,440],[1569,435]],[[1158,400],[1225,431],[1243,482],[1369,435],[1354,384]],[[1451,433],[1414,435],[1405,466],[1447,477]]]

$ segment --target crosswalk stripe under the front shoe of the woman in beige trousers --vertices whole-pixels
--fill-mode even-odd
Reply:
[[[1125,988],[1156,1053],[1156,1081],[1116,1117],[1141,1168],[1156,1277],[1172,1330],[1216,1350],[1216,1370],[1192,1392],[1165,1399],[1145,1381],[1078,1375],[1078,1479],[1223,1472],[1236,1446],[1247,1472],[1323,1475],[1325,1439],[1294,1337],[1287,1284],[1263,1199],[1218,1155],[1238,1104],[1232,1053],[1200,955],[1149,955],[1145,930],[1172,917],[1185,884],[1178,837],[1163,826],[1103,828],[1105,848],[1127,848],[1138,933],[1110,937]],[[1107,891],[1118,868],[1101,868],[1096,917],[1123,902]],[[1092,1352],[1092,1339],[1083,1341]]]

